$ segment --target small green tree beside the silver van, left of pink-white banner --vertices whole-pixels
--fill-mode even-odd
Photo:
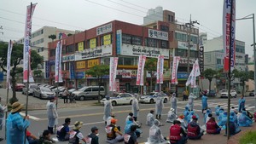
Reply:
[[[101,82],[102,82],[102,76],[109,74],[109,66],[108,65],[96,65],[91,67],[89,70],[85,72],[88,75],[91,75],[92,77],[97,78],[98,85],[99,85],[99,92],[98,92],[98,102],[101,102]]]

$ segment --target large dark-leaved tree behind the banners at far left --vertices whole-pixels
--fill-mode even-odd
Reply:
[[[0,60],[3,61],[1,68],[4,72],[7,72],[7,52],[8,52],[8,43],[0,42]],[[38,64],[43,63],[43,56],[38,55],[35,50],[31,52],[31,68],[35,69],[38,67]],[[23,44],[14,44],[11,54],[10,66],[12,67],[10,70],[11,82],[12,82],[12,89],[13,89],[13,97],[10,100],[12,104],[15,101],[18,101],[15,92],[15,85],[16,85],[16,74],[22,73],[23,68],[19,67],[20,61],[23,59]]]

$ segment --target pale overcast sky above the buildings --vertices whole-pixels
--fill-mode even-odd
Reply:
[[[84,31],[112,20],[142,25],[148,9],[161,6],[175,12],[179,22],[189,22],[191,14],[192,20],[200,23],[196,25],[199,32],[207,32],[208,39],[222,35],[224,0],[0,0],[0,40],[24,36],[26,6],[31,2],[38,3],[32,32],[43,26]],[[236,19],[249,14],[256,14],[256,1],[236,0]],[[252,56],[252,19],[236,20],[236,39],[246,43],[246,54]]]

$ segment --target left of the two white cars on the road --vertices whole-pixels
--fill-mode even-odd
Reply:
[[[123,105],[123,104],[132,104],[134,96],[131,95],[130,93],[119,93],[119,94],[114,94],[113,96],[110,97],[110,101],[112,103],[112,106],[116,105]],[[104,101],[106,101],[106,98],[103,98],[101,101],[101,104],[104,104]]]

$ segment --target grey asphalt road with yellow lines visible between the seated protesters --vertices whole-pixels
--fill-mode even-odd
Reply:
[[[254,99],[253,97],[246,97],[246,107],[248,110],[254,110]],[[42,101],[42,100],[38,100]],[[231,106],[234,106],[237,108],[237,102],[238,98],[231,99]],[[40,102],[38,102],[40,103]],[[94,101],[90,101],[90,103],[94,103]],[[187,104],[187,101],[178,101],[177,104],[177,112],[178,114],[181,114],[184,110],[185,105]],[[214,111],[214,107],[220,104],[221,107],[224,107],[224,109],[227,109],[227,99],[208,99],[208,106]],[[165,104],[164,110],[163,110],[163,116],[162,120],[160,120],[161,123],[165,124],[163,127],[160,127],[162,130],[162,133],[164,136],[169,135],[169,128],[171,124],[166,123],[166,114],[168,110],[170,109],[170,101]],[[45,106],[45,105],[44,105]],[[154,109],[154,104],[140,104],[140,113],[138,117],[138,121],[143,124],[143,136],[138,138],[137,141],[139,143],[143,143],[147,141],[148,138],[148,129],[149,127],[145,125],[145,119],[146,115],[151,109]],[[203,116],[201,114],[201,100],[195,100],[195,112],[199,114],[200,119],[199,122],[202,124]],[[125,106],[117,106],[113,107],[113,112],[116,115],[116,118],[119,119],[118,125],[121,126],[121,130],[124,131],[125,127],[125,118],[128,115],[129,112],[131,112],[131,106],[130,105],[125,105]],[[29,127],[29,130],[32,132],[34,135],[40,135],[43,130],[47,129],[47,117],[46,117],[46,110],[36,110],[36,111],[29,111],[29,115],[31,115],[31,122],[32,124]],[[75,121],[83,121],[84,126],[81,128],[81,131],[84,135],[87,135],[90,133],[90,128],[92,126],[96,126],[99,128],[99,137],[100,137],[100,144],[105,144],[106,143],[106,133],[104,130],[104,122],[102,120],[103,117],[103,107],[102,106],[90,106],[90,107],[71,107],[71,108],[60,108],[58,109],[59,113],[59,124],[64,123],[65,118],[71,118],[72,119],[72,125]],[[222,134],[224,134],[224,131],[222,130]],[[3,133],[1,134],[3,136]],[[52,137],[55,137],[53,135]],[[226,137],[223,135],[204,135],[202,137],[202,140],[200,141],[189,141],[189,144],[194,144],[194,143],[208,143],[209,141],[214,141],[214,143],[218,144],[224,144],[226,143]],[[59,143],[67,143],[67,142],[59,142]]]

